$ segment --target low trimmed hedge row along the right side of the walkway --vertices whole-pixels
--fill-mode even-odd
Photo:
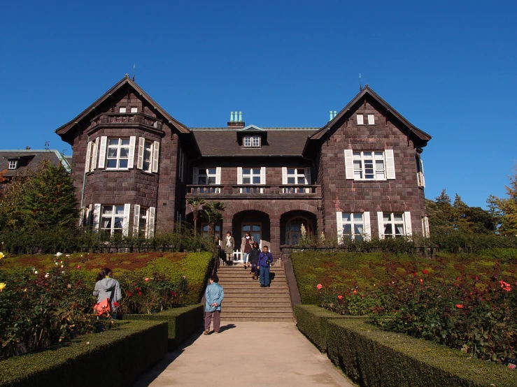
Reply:
[[[315,308],[315,305],[295,306],[299,330],[309,338],[314,337],[311,323],[327,319],[328,356],[348,377],[364,386],[517,386],[517,373],[502,365],[468,358],[460,351],[422,339],[386,332],[361,319],[338,314],[334,316],[341,318],[332,319],[330,314],[321,314]],[[323,339],[319,340],[323,346]]]

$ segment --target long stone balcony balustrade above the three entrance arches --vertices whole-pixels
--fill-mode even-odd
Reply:
[[[253,196],[255,198],[299,198],[320,199],[321,186],[318,184],[241,184],[241,185],[217,185],[217,184],[187,184],[187,198],[199,196],[203,198],[242,198]]]

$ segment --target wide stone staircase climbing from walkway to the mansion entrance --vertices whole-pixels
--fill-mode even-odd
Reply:
[[[271,286],[261,288],[250,269],[242,265],[218,268],[219,284],[225,289],[221,321],[294,321],[285,270],[271,267]]]

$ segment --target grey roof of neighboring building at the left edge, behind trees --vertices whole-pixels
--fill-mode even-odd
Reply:
[[[61,163],[67,172],[71,172],[67,157],[56,149],[0,149],[0,170],[7,170],[3,176],[12,177],[29,167],[36,169],[45,159],[55,166]],[[9,169],[9,161],[17,161],[15,169]]]

